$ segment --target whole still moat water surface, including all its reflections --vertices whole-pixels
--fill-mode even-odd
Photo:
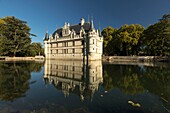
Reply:
[[[0,113],[170,113],[170,64],[0,62]]]

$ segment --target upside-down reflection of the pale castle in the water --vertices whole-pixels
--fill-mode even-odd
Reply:
[[[46,60],[44,81],[62,90],[65,97],[76,93],[81,100],[93,99],[95,91],[103,83],[102,62]]]

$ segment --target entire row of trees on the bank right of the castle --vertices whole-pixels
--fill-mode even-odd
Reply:
[[[170,56],[170,14],[146,29],[139,24],[102,31],[104,55]]]

